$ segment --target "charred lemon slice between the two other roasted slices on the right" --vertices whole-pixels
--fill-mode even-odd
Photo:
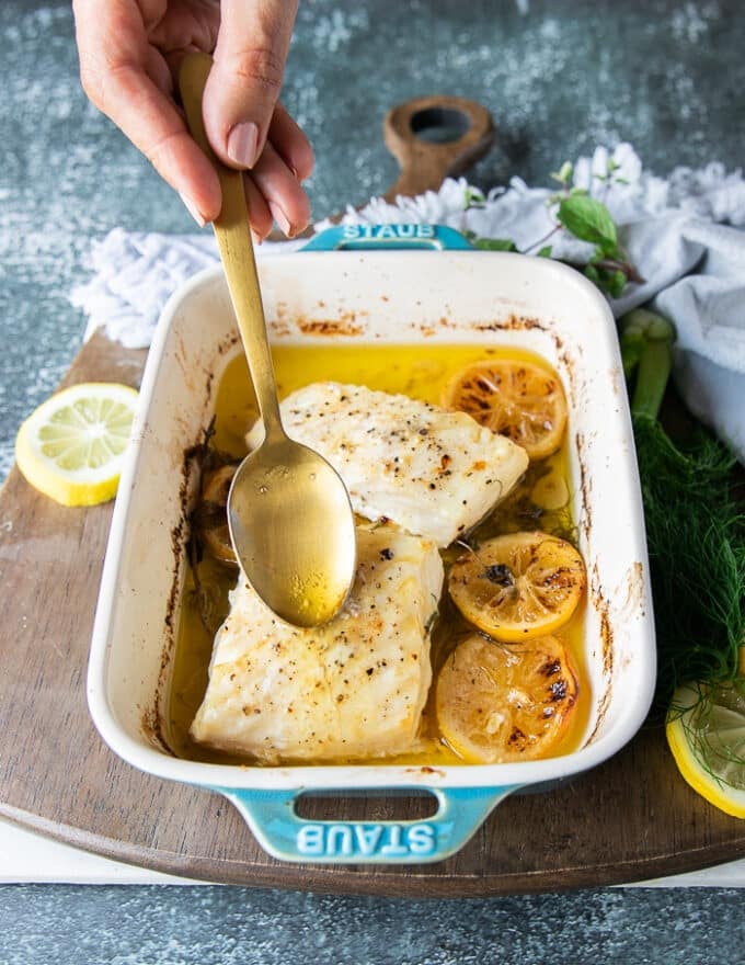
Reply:
[[[466,620],[518,643],[563,626],[585,589],[582,556],[548,533],[509,533],[469,549],[450,568],[448,590]]]

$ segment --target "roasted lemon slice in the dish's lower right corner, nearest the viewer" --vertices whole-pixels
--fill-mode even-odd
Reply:
[[[515,649],[474,634],[443,665],[435,705],[456,753],[470,763],[505,763],[547,757],[576,699],[576,677],[555,637]]]

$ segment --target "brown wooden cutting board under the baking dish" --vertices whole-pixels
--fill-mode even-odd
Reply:
[[[416,111],[439,110],[444,100],[416,102]],[[411,109],[404,107],[410,129]],[[398,137],[391,118],[393,112],[389,145]],[[460,141],[455,150],[446,146],[432,170],[422,168],[424,185],[406,173],[412,155],[401,148],[402,178],[409,179],[403,190],[436,188],[483,154],[492,136],[486,120],[465,151]],[[414,157],[415,170],[417,163]],[[137,386],[145,356],[95,334],[64,384]],[[508,797],[458,854],[438,864],[333,867],[270,858],[221,796],[140,773],[111,753],[91,724],[88,649],[112,509],[59,507],[16,468],[0,490],[0,816],[106,858],[192,878],[405,897],[555,892],[745,856],[745,821],[696,795],[679,777],[663,730],[650,727],[587,774],[552,791]],[[306,816],[422,816],[416,798],[355,797],[335,802],[331,811],[326,806],[312,802]]]

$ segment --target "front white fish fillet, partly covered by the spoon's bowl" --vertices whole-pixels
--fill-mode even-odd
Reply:
[[[412,747],[432,667],[443,564],[432,541],[357,530],[344,610],[323,627],[279,621],[240,581],[215,638],[195,740],[264,763],[335,761]]]

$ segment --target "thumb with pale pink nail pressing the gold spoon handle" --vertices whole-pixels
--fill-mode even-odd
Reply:
[[[296,11],[295,0],[222,0],[204,121],[213,150],[231,168],[252,168],[264,148]]]

